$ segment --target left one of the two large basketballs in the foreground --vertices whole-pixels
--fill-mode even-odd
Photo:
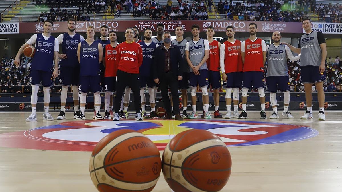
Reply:
[[[161,170],[160,153],[145,135],[129,129],[102,138],[90,158],[90,177],[100,192],[149,192]]]

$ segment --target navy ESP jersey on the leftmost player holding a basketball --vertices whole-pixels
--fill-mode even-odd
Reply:
[[[50,36],[45,40],[42,33],[37,33],[36,53],[32,59],[31,69],[50,71],[53,67],[55,38]]]

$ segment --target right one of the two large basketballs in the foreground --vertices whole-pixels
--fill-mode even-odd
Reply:
[[[177,134],[165,148],[162,172],[176,192],[220,191],[231,175],[231,155],[220,137],[201,129]],[[171,170],[170,170],[171,169]]]

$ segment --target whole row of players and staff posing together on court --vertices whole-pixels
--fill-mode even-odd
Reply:
[[[24,49],[30,45],[35,47],[29,79],[32,86],[32,113],[26,121],[37,121],[39,86],[43,86],[44,92],[43,120],[54,120],[49,113],[50,87],[53,86],[53,79],[57,77],[62,86],[61,111],[57,120],[66,118],[65,106],[69,87],[73,92],[73,118],[76,120],[86,120],[88,93],[94,94],[93,119],[128,119],[131,92],[134,97],[135,120],[158,119],[158,89],[166,112],[164,119],[246,119],[248,90],[252,88],[259,93],[260,119],[267,119],[266,94],[269,94],[273,108],[269,119],[279,119],[279,113],[284,118],[293,119],[289,111],[288,59],[300,60],[306,111],[298,119],[313,118],[313,84],[318,92],[318,120],[326,119],[323,87],[326,80],[326,42],[323,33],[312,30],[311,20],[308,18],[302,20],[305,33],[299,39],[298,46],[281,42],[279,31],[272,33],[273,43],[266,45],[263,39],[257,37],[258,26],[255,23],[249,24],[249,38],[245,41],[235,39],[232,26],[226,27],[227,40],[221,43],[214,40],[215,28],[212,26],[203,29],[196,24],[192,25],[192,40],[188,41],[183,37],[182,26],[177,26],[172,32],[175,34],[171,34],[164,31],[164,25],[159,23],[156,34],[150,28],[144,31],[139,31],[137,27],[127,28],[124,37],[119,37],[123,42],[118,43],[117,33],[110,31],[106,25],[101,26],[101,39],[95,40],[94,27],[89,26],[87,37],[82,37],[75,31],[76,21],[69,19],[67,22],[66,32],[55,38],[51,35],[53,22],[45,20],[44,32],[32,35],[15,57],[14,63],[18,66]],[[206,32],[206,39],[200,38],[202,31]],[[143,33],[143,41],[139,40],[140,33]],[[171,36],[176,38],[172,40]],[[298,56],[294,56],[292,52]],[[223,115],[219,111],[219,91],[222,87],[225,89],[227,109]],[[199,114],[196,109],[198,88],[201,90],[203,103],[203,113]],[[209,112],[209,88],[213,90],[213,115]],[[101,111],[100,92],[103,91],[105,109]],[[179,91],[182,95],[181,101]],[[188,91],[191,96],[191,112],[187,110]],[[149,95],[150,112],[146,111],[145,92]],[[280,112],[277,111],[277,92],[284,94],[284,110]],[[239,94],[241,112],[238,111]],[[179,107],[180,102],[182,109]]]

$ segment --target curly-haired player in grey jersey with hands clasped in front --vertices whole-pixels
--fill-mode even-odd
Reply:
[[[197,119],[197,110],[196,110],[196,90],[197,85],[202,89],[202,99],[204,102],[204,113],[205,119],[211,119],[209,113],[209,96],[208,96],[208,67],[207,67],[207,59],[209,58],[209,42],[206,39],[202,39],[199,37],[199,26],[192,25],[191,33],[193,35],[193,40],[189,41],[185,45],[185,58],[187,63],[192,70],[189,73],[189,85],[191,88],[191,101],[193,112],[189,115],[189,119]],[[204,53],[204,54],[203,54]]]

